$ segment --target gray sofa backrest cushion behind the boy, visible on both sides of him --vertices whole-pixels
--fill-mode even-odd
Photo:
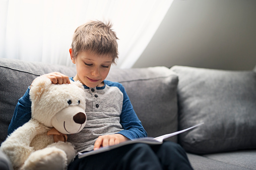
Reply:
[[[69,77],[76,75],[76,69],[72,67],[0,59],[0,143],[7,137],[19,98],[37,76],[54,71]],[[156,137],[177,130],[176,73],[165,67],[111,68],[107,79],[123,84],[148,136]],[[177,141],[177,136],[170,140]]]

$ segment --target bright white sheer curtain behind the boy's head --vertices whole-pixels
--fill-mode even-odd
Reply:
[[[173,0],[0,0],[0,57],[73,65],[75,29],[89,20],[113,23],[117,67],[130,68],[159,27]]]

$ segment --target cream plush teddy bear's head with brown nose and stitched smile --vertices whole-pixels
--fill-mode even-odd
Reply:
[[[31,117],[59,132],[80,132],[86,124],[85,92],[80,82],[52,84],[50,79],[36,78],[30,89]]]

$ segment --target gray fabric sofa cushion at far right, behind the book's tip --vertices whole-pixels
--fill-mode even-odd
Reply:
[[[179,76],[179,135],[189,152],[256,148],[256,73],[174,66]]]

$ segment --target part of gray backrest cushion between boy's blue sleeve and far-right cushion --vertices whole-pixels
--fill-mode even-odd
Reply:
[[[121,83],[150,137],[177,130],[176,73],[166,67],[110,70],[110,81]],[[177,136],[168,140],[177,141]]]

